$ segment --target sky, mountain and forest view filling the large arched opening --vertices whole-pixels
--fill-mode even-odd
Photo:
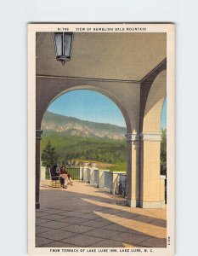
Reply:
[[[50,143],[57,154],[54,161],[72,172],[88,162],[88,166],[94,163],[99,170],[126,176],[126,126],[120,108],[101,92],[88,89],[63,92],[50,102],[42,117],[42,165],[44,162],[46,166],[43,151]],[[104,181],[105,187],[112,190],[107,172],[105,179],[109,179]],[[127,176],[122,177],[122,189],[119,184],[116,193],[126,195],[126,179]]]

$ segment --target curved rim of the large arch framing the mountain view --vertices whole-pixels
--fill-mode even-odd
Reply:
[[[59,96],[65,94],[65,93],[67,93],[71,90],[93,90],[93,91],[97,91],[97,92],[101,93],[102,95],[105,95],[108,98],[110,98],[110,100],[116,104],[117,108],[120,109],[120,111],[121,111],[121,113],[122,113],[122,115],[125,119],[127,132],[132,131],[132,125],[131,125],[131,121],[130,121],[129,115],[127,113],[127,110],[122,106],[122,103],[118,100],[118,98],[115,95],[113,95],[110,91],[99,88],[95,85],[77,85],[77,86],[71,85],[70,87],[66,88],[65,90],[60,90],[58,93],[55,92],[52,96],[48,96],[47,100],[44,101],[44,105],[42,106],[42,111],[41,111],[41,108],[40,108],[40,112],[37,115],[37,127],[38,127],[38,129],[41,130],[42,118],[43,118],[44,113],[48,109],[49,105],[52,102],[54,102],[54,100],[57,99]],[[42,104],[43,104],[43,102],[42,102]]]

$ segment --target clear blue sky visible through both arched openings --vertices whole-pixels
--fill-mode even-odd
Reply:
[[[48,111],[77,119],[126,127],[121,110],[110,98],[93,90],[71,90],[59,96]],[[161,127],[167,125],[167,101],[161,114]]]

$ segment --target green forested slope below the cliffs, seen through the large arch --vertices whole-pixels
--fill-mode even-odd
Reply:
[[[49,139],[59,154],[58,162],[60,165],[70,162],[70,165],[74,166],[75,159],[101,161],[110,164],[126,163],[127,161],[127,144],[124,140],[77,137],[53,131],[43,131],[42,152]]]

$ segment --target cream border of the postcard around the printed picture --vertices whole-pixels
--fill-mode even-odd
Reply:
[[[124,32],[127,31],[127,27],[146,27],[146,32],[167,32],[167,236],[171,237],[171,245],[167,248],[152,248],[152,253],[133,253],[136,255],[166,255],[172,256],[174,251],[174,25],[173,24],[30,24],[28,25],[28,98],[29,98],[29,154],[28,154],[28,172],[29,172],[29,197],[28,197],[28,209],[29,209],[29,229],[28,229],[28,240],[29,240],[29,252],[30,255],[48,255],[49,249],[46,247],[35,247],[35,143],[31,141],[35,138],[35,120],[36,120],[36,79],[33,78],[36,74],[36,32],[56,32],[59,27],[69,27],[70,32],[76,32],[76,28],[85,27],[91,28],[91,32],[94,27],[102,28],[125,28]],[[86,29],[84,31],[78,32],[88,32]],[[90,30],[89,30],[90,32]],[[105,30],[104,30],[105,32]],[[108,31],[110,32],[110,31]],[[113,32],[116,32],[115,29]],[[121,32],[120,30],[117,32]],[[137,32],[137,31],[134,31]],[[142,32],[142,31],[139,31]],[[144,31],[145,32],[145,31]],[[170,132],[172,131],[172,133]],[[171,170],[171,172],[169,171]],[[50,253],[50,255],[57,255],[62,253]],[[79,253],[71,253],[71,255],[79,255]],[[85,255],[87,253],[80,253]],[[108,253],[108,255],[113,255],[114,253]],[[69,255],[67,253],[67,255]],[[94,253],[94,255],[102,255],[102,253]],[[126,253],[119,253],[119,255],[126,256]]]

